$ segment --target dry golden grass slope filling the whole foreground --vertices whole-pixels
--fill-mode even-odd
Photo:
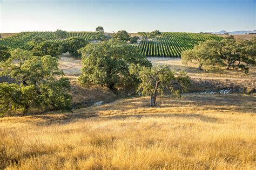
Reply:
[[[256,97],[184,95],[0,118],[6,169],[255,169]],[[1,168],[1,167],[0,167]]]

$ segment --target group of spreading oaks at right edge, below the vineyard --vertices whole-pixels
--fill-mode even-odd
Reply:
[[[237,40],[233,36],[221,41],[208,40],[199,42],[197,46],[181,54],[184,63],[196,61],[198,69],[206,66],[226,66],[226,69],[239,69],[248,73],[250,65],[256,64],[256,38],[251,40]]]

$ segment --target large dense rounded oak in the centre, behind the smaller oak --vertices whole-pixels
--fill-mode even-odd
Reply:
[[[136,86],[136,77],[130,75],[129,67],[132,64],[152,66],[138,48],[116,39],[89,44],[80,52],[83,68],[79,81],[82,84],[100,84],[110,89]]]

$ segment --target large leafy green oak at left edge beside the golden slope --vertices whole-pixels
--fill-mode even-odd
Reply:
[[[15,49],[8,60],[1,63],[0,76],[8,76],[17,83],[0,83],[2,112],[29,108],[69,108],[71,96],[69,79],[58,69],[58,61],[50,55],[32,56],[29,51]],[[57,79],[57,77],[60,77]]]

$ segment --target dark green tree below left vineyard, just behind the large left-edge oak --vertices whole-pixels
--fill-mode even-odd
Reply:
[[[32,49],[35,56],[51,55],[56,58],[60,56],[61,51],[59,42],[52,41],[42,41]]]

